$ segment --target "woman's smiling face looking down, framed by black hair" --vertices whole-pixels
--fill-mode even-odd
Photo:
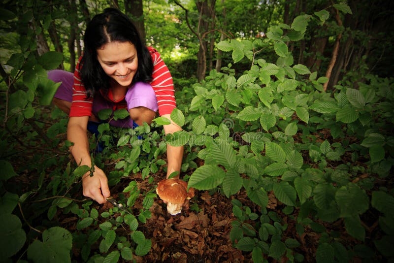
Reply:
[[[130,86],[138,68],[137,50],[131,42],[109,42],[97,50],[104,72],[121,86]]]

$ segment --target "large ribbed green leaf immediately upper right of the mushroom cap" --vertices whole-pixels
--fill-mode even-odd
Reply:
[[[211,164],[205,164],[198,167],[190,176],[188,187],[198,190],[210,190],[223,182],[226,177],[225,171]]]

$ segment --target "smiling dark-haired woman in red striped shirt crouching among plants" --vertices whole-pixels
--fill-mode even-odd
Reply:
[[[91,165],[87,127],[99,121],[104,108],[127,108],[130,118],[110,125],[133,128],[150,124],[156,111],[170,119],[176,107],[171,75],[160,54],[145,47],[129,18],[115,8],[107,8],[88,24],[83,55],[74,74],[62,70],[48,72],[55,82],[62,81],[53,99],[69,114],[67,139],[74,143],[71,154],[79,165]],[[97,123],[96,123],[97,125]],[[164,132],[180,131],[171,123]],[[167,177],[180,171],[183,147],[167,145]],[[99,203],[110,196],[105,173],[97,166],[93,176],[82,177],[83,195]]]

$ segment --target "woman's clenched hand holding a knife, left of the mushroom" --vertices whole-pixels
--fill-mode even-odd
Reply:
[[[108,179],[105,173],[97,166],[93,176],[86,173],[82,177],[83,195],[90,197],[98,203],[105,203],[106,198],[111,195],[108,188]]]

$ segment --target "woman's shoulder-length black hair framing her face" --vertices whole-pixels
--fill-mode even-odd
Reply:
[[[84,51],[80,62],[80,74],[87,97],[95,92],[109,90],[110,77],[97,60],[97,50],[111,41],[131,42],[137,51],[138,67],[132,82],[150,82],[153,63],[150,53],[142,43],[139,33],[131,20],[116,8],[106,8],[89,22],[84,35]]]

